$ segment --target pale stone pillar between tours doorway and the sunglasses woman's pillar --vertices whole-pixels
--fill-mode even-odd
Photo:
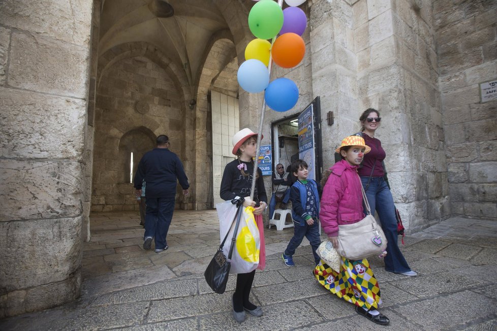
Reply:
[[[314,1],[310,7],[312,88],[321,98],[323,167],[334,164],[335,145],[359,130],[352,6],[345,0]],[[326,124],[326,114],[334,124]]]

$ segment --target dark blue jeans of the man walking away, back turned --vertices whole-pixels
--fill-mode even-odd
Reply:
[[[154,238],[156,249],[166,248],[167,231],[174,211],[174,197],[147,197],[145,236]]]

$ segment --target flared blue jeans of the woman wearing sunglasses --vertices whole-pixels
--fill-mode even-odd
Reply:
[[[369,177],[362,177],[361,182],[364,189]],[[378,212],[381,227],[387,237],[387,256],[385,257],[385,270],[392,273],[403,273],[411,271],[409,264],[398,248],[397,219],[395,218],[395,205],[387,182],[383,177],[372,177],[366,191],[367,201],[371,208],[371,215]],[[364,210],[366,213],[366,210]]]

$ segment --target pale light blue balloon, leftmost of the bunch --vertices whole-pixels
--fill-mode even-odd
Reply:
[[[255,58],[246,60],[238,68],[238,84],[249,93],[264,91],[269,84],[269,71],[266,65]]]

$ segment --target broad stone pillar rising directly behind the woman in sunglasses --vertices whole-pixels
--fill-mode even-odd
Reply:
[[[360,108],[381,112],[392,194],[416,231],[449,215],[431,2],[360,0],[354,14]]]

